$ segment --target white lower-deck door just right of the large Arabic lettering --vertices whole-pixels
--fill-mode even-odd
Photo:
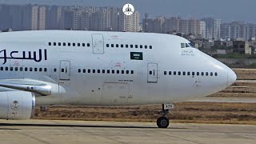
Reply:
[[[61,61],[59,70],[60,80],[70,80],[70,61]]]

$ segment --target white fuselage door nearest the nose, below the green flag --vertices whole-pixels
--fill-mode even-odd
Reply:
[[[158,82],[158,63],[147,64],[147,82]]]

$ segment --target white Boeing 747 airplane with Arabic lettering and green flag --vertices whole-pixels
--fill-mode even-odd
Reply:
[[[236,74],[170,34],[42,30],[0,34],[0,118],[27,119],[35,105],[162,104],[226,89]]]

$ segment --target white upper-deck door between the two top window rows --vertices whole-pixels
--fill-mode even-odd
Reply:
[[[92,34],[93,53],[104,54],[104,39],[103,34]]]

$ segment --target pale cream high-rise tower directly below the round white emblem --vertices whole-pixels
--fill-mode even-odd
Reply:
[[[125,15],[124,30],[130,32],[140,31],[138,11],[131,15]]]

